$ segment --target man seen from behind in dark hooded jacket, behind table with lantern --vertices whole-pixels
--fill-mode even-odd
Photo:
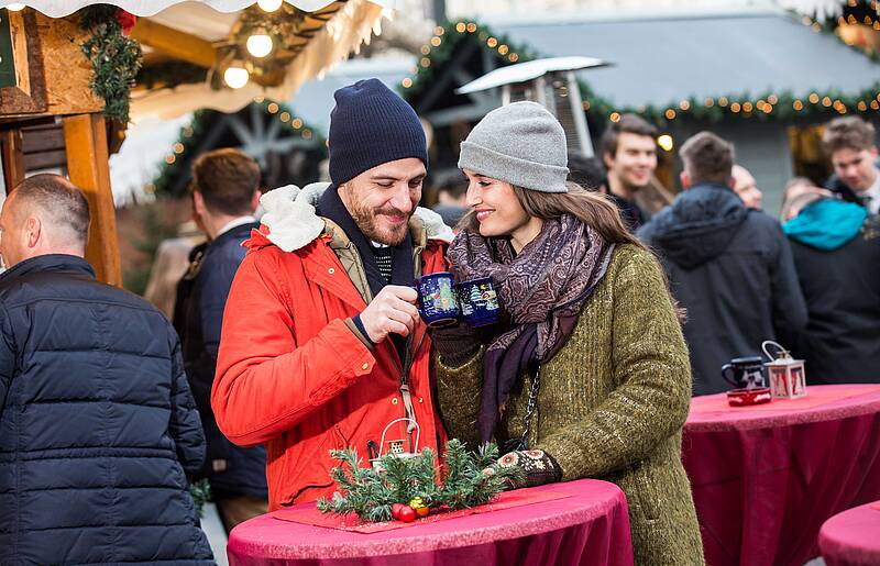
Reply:
[[[726,362],[760,355],[765,340],[791,347],[806,307],[779,224],[733,191],[733,146],[701,132],[680,153],[684,192],[638,235],[688,310],[694,395],[717,393],[730,388],[721,377]]]

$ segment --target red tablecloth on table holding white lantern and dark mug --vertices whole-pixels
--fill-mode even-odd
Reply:
[[[801,566],[826,519],[880,498],[880,386],[738,408],[696,397],[682,448],[707,564]]]

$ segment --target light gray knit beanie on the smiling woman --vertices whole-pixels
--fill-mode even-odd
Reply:
[[[514,102],[480,121],[461,143],[459,169],[541,192],[568,192],[562,125],[541,104]]]

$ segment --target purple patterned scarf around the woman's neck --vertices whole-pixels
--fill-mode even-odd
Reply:
[[[510,390],[532,362],[543,364],[565,344],[584,301],[612,257],[595,230],[572,215],[543,222],[540,234],[517,255],[510,241],[463,230],[448,258],[459,280],[491,276],[508,319],[492,340],[483,368],[477,430],[492,440]]]

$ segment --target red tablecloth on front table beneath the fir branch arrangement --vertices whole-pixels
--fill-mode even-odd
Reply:
[[[270,513],[233,529],[227,554],[232,566],[632,564],[626,497],[617,486],[584,479],[535,489],[572,497],[371,534]]]

